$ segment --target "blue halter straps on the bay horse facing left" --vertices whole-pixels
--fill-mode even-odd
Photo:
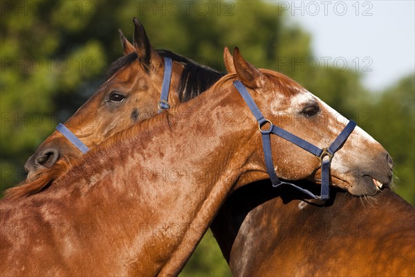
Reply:
[[[170,105],[168,102],[169,99],[169,89],[170,89],[170,80],[172,79],[172,59],[169,57],[165,57],[165,69],[164,69],[164,75],[163,75],[163,85],[161,87],[161,96],[160,96],[160,102],[158,102],[158,112],[165,109],[169,109]],[[82,154],[85,154],[88,152],[89,148],[82,143],[80,139],[77,138],[73,132],[71,132],[70,129],[68,129],[63,123],[59,123],[59,125],[56,126],[57,131],[61,132],[68,141],[71,141],[73,145],[76,146],[77,149],[79,149]]]

